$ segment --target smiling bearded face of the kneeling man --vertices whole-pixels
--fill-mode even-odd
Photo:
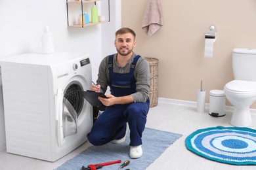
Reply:
[[[115,40],[116,50],[122,56],[127,56],[133,52],[136,41],[131,33],[118,34]]]

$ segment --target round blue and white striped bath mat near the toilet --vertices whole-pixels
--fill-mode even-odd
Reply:
[[[209,127],[186,137],[186,148],[204,158],[232,165],[256,165],[256,130]]]

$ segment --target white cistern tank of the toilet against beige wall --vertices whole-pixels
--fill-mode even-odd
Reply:
[[[235,80],[256,82],[256,49],[234,48],[232,67]]]

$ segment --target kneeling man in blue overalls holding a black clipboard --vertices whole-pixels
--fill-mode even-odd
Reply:
[[[146,59],[133,52],[136,34],[123,27],[116,31],[117,53],[104,58],[99,67],[96,85],[90,90],[105,93],[110,86],[108,99],[98,97],[106,109],[93,124],[87,135],[93,145],[110,141],[125,141],[127,123],[130,128],[130,157],[142,156],[142,132],[146,124],[150,101],[150,69]]]

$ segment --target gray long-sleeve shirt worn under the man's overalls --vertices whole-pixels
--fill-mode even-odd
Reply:
[[[133,52],[133,56],[129,59],[124,67],[121,67],[116,61],[117,54],[114,54],[113,58],[113,71],[114,73],[129,73],[131,63],[137,56]],[[106,92],[108,86],[110,86],[109,71],[108,71],[108,57],[102,59],[100,67],[98,69],[98,80],[97,84],[100,84],[100,89],[103,93]],[[136,80],[136,93],[131,94],[135,102],[145,102],[148,99],[150,92],[150,68],[149,63],[146,59],[140,57],[137,61],[134,76]]]

